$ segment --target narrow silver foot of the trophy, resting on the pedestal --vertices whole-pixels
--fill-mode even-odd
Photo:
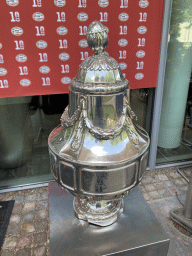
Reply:
[[[123,199],[93,201],[90,198],[74,198],[75,216],[98,226],[113,224],[123,212]]]

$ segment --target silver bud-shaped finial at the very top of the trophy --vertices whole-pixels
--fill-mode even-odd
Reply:
[[[108,31],[109,29],[99,21],[93,21],[87,31],[88,45],[95,52],[99,54],[104,51],[108,45]]]

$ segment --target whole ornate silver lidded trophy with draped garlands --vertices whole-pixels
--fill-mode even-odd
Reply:
[[[122,198],[144,174],[149,137],[133,123],[128,81],[104,52],[108,28],[92,22],[87,41],[95,54],[79,66],[69,106],[48,145],[56,181],[75,196],[75,215],[107,226],[123,212]]]

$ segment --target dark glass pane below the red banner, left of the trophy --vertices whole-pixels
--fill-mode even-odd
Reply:
[[[53,180],[47,141],[67,104],[66,94],[0,99],[0,189]]]

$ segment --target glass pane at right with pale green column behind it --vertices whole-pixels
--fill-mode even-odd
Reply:
[[[192,97],[192,5],[172,4],[164,94],[159,128],[157,164],[192,159],[189,102]],[[189,86],[190,85],[190,86]]]

